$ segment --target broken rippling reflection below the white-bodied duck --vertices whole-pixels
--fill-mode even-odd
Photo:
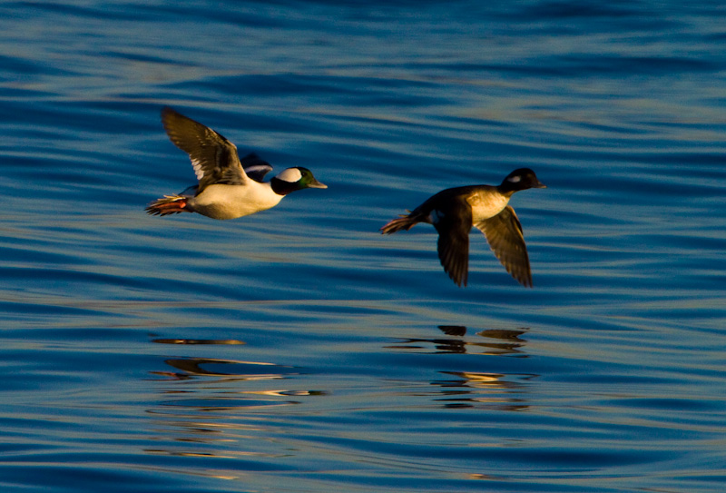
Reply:
[[[200,348],[204,352],[210,350],[209,345],[244,344],[240,340],[152,342],[185,346],[187,350],[207,346]],[[158,399],[147,413],[159,446],[145,449],[149,454],[259,460],[280,457],[285,452],[270,437],[282,431],[270,420],[270,410],[296,406],[306,397],[325,394],[281,385],[299,375],[288,365],[204,356],[174,356],[163,361],[172,370],[150,372],[157,377]],[[222,472],[221,477],[233,477],[226,472],[231,471]]]

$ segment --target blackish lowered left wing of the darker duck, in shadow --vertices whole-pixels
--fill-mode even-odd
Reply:
[[[444,271],[457,286],[464,284],[469,272],[469,232],[472,226],[471,206],[464,197],[447,201],[446,205],[434,209],[438,232],[438,259]]]

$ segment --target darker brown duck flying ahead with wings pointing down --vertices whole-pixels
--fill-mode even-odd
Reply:
[[[418,222],[433,224],[438,232],[438,258],[444,271],[466,286],[469,269],[469,232],[472,226],[486,241],[507,272],[525,287],[532,287],[532,272],[522,225],[512,206],[514,192],[546,188],[528,168],[515,170],[498,186],[471,185],[438,192],[413,212],[401,214],[380,229],[382,234],[410,230]]]

